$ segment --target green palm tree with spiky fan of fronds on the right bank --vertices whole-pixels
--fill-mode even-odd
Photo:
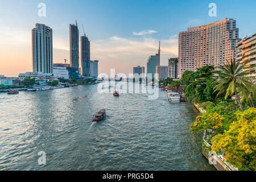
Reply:
[[[214,92],[218,91],[217,96],[226,92],[225,99],[229,95],[233,96],[235,94],[240,109],[243,110],[240,97],[238,97],[238,91],[240,91],[242,96],[246,94],[248,97],[249,94],[247,93],[251,94],[253,83],[246,76],[250,74],[252,69],[245,69],[245,63],[240,63],[235,59],[227,60],[226,62],[223,65],[219,65],[217,71],[215,71],[217,85],[214,87]]]

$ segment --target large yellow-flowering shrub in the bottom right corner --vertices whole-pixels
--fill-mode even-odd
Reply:
[[[224,151],[225,159],[235,166],[256,170],[256,109],[238,111],[237,119],[213,138],[212,150]]]

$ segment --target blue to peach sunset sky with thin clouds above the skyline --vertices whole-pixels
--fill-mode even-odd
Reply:
[[[38,16],[39,3],[46,16]],[[217,16],[210,17],[209,3]],[[256,1],[174,0],[0,0],[0,75],[17,77],[32,71],[31,30],[43,23],[53,30],[53,63],[69,60],[69,24],[79,24],[90,40],[90,58],[98,72],[133,73],[158,51],[160,65],[178,56],[178,35],[189,27],[224,18],[237,20],[240,38],[256,33]],[[82,28],[84,26],[84,31]]]

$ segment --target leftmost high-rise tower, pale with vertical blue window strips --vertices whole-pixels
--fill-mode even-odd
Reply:
[[[52,28],[36,23],[32,29],[33,72],[52,73]]]

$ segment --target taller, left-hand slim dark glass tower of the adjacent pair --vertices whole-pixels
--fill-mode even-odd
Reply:
[[[79,70],[79,29],[76,24],[69,24],[70,63]]]

